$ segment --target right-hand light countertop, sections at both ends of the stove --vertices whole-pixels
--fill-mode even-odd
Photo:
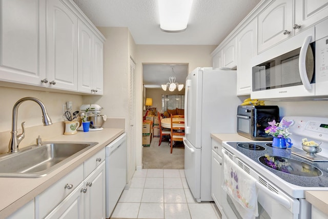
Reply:
[[[237,133],[211,133],[211,137],[222,142],[254,142],[249,138],[243,137]],[[305,200],[310,202],[322,212],[328,214],[328,191],[305,191]]]

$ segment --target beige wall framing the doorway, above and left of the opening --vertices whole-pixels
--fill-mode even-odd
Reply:
[[[197,67],[211,67],[215,45],[136,45],[136,165],[142,168],[142,64],[187,63],[189,72]]]

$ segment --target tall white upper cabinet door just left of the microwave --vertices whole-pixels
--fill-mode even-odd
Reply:
[[[251,58],[257,54],[257,19],[236,36],[237,42],[237,95],[251,94]]]

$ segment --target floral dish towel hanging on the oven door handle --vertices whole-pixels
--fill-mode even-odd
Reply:
[[[258,216],[256,180],[223,153],[222,188],[231,197],[243,219]]]

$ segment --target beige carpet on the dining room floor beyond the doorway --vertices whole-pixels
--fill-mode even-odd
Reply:
[[[159,137],[153,137],[150,147],[142,148],[144,169],[185,169],[185,147],[177,142],[170,153],[170,143],[163,142],[158,147]]]

